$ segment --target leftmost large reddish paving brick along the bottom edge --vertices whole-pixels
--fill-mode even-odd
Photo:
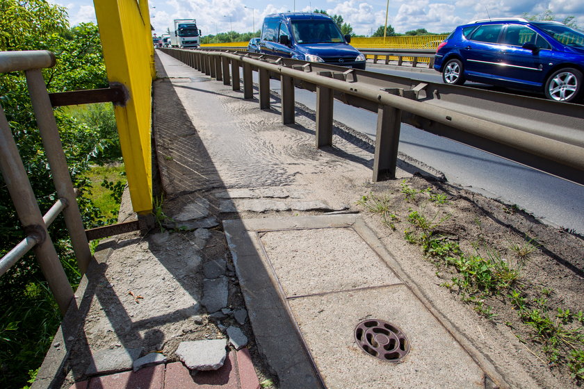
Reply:
[[[164,365],[145,367],[138,372],[123,372],[93,377],[88,389],[163,389]]]

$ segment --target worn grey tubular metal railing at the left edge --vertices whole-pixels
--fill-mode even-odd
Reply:
[[[43,216],[6,115],[0,106],[0,169],[19,220],[26,232],[26,238],[0,259],[0,275],[33,249],[44,278],[47,279],[59,309],[64,314],[73,298],[73,290],[67,281],[65,270],[60,264],[47,227],[58,214],[63,213],[82,274],[86,272],[90,263],[91,251],[83,229],[83,221],[60,142],[51,100],[41,74],[41,69],[54,65],[55,57],[50,51],[0,52],[0,73],[24,71],[26,74],[33,110],[58,196],[58,201]]]

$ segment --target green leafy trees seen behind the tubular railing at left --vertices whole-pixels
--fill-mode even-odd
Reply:
[[[46,0],[0,0],[0,50],[53,51],[56,66],[42,71],[49,92],[108,85],[97,26],[81,24],[69,28],[65,8]],[[46,212],[56,200],[56,193],[47,171],[47,158],[22,72],[0,74],[0,104],[10,123],[39,208]],[[83,174],[91,162],[103,158],[108,144],[117,141],[117,133],[112,131],[111,124],[89,126],[67,112],[64,108],[54,110],[74,185],[83,192],[88,188]],[[86,227],[104,224],[90,200],[79,197],[78,202]],[[0,214],[0,256],[3,256],[25,234],[1,176]],[[74,256],[70,254],[63,217],[51,225],[49,233],[67,276],[72,283],[78,283],[79,271]],[[26,320],[25,314],[32,320]],[[40,366],[60,319],[32,254],[3,274],[0,279],[1,388],[26,385],[29,370],[34,371]]]

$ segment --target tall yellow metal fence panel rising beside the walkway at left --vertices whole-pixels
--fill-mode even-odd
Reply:
[[[152,211],[152,79],[154,46],[146,0],[95,0],[110,83],[129,93],[126,106],[115,106],[115,121],[133,210]]]

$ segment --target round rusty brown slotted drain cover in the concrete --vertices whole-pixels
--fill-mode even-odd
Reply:
[[[370,319],[355,327],[355,342],[371,356],[399,362],[409,352],[409,342],[398,327],[383,320]]]

